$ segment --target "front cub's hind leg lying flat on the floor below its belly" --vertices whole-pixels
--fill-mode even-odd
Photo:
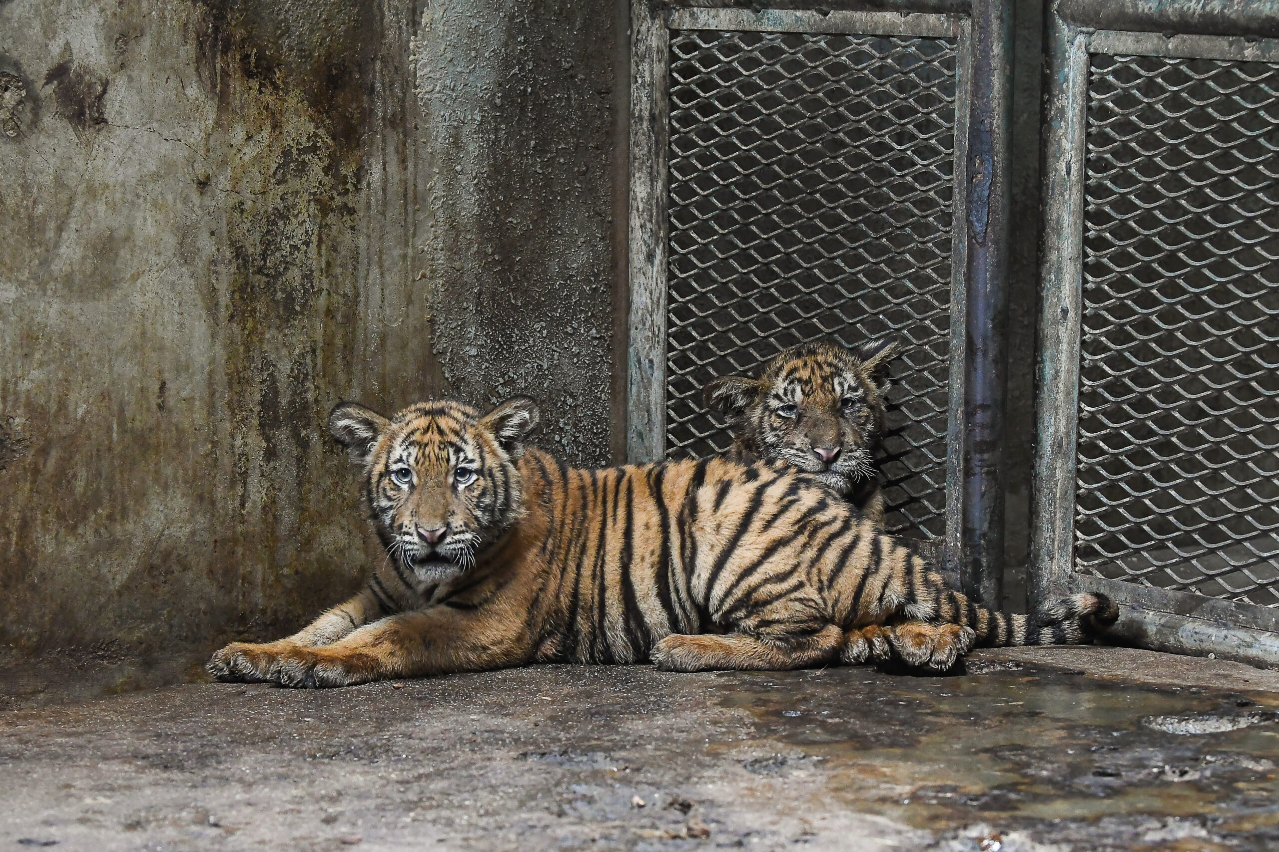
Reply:
[[[834,662],[843,643],[835,625],[812,634],[674,634],[654,646],[651,659],[665,672],[780,671]]]

